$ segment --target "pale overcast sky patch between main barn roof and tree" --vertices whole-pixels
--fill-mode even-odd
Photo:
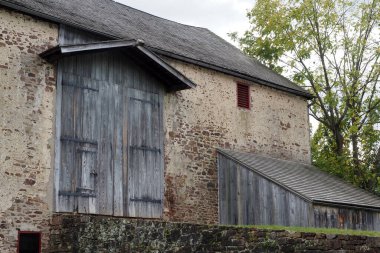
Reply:
[[[205,27],[230,41],[227,33],[249,28],[246,12],[254,0],[116,0],[182,24]],[[231,42],[231,41],[230,41]]]

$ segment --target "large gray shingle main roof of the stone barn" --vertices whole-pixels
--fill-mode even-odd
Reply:
[[[311,95],[205,28],[179,24],[112,0],[0,0],[0,4],[118,39],[142,39],[167,56],[196,61],[303,97]]]

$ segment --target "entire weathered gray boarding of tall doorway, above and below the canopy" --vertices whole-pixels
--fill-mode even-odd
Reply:
[[[60,41],[98,39],[73,31]],[[161,217],[162,83],[123,51],[61,59],[58,77],[56,211]]]

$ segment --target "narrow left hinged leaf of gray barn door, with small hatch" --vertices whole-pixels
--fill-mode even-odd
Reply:
[[[96,212],[98,176],[99,84],[63,74],[61,162],[58,185],[60,212]]]

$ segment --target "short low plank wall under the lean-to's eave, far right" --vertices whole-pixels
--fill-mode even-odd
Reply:
[[[316,227],[380,231],[380,212],[314,205]]]

